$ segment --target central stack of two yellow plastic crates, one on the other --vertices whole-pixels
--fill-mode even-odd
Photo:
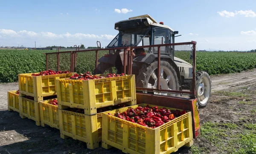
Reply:
[[[98,148],[102,139],[102,114],[136,105],[135,87],[134,75],[90,80],[57,79],[61,138],[72,137],[86,142],[88,149]]]

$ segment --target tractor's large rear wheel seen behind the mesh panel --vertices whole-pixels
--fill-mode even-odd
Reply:
[[[177,73],[172,67],[171,64],[167,61],[160,62],[160,88],[164,90],[179,90],[180,84],[177,77]],[[157,88],[157,61],[154,61],[148,66],[142,67],[139,72],[138,77],[136,78],[136,87],[143,88]],[[144,93],[148,93],[145,92]],[[166,96],[178,96],[178,94],[173,93],[159,93],[154,92],[157,95],[166,95]]]

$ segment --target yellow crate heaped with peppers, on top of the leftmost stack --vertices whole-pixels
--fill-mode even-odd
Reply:
[[[48,76],[32,76],[32,73],[18,74],[20,94],[32,96],[35,101],[42,101],[43,97],[57,95],[56,79],[70,78],[73,74],[64,73]]]

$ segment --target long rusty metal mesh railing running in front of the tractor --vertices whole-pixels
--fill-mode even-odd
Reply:
[[[84,67],[87,66],[89,63],[87,64],[85,62],[88,59],[90,59],[90,61],[94,63],[91,65],[95,66],[92,69],[92,70],[95,70],[94,74],[98,74],[98,73],[102,73],[98,69],[99,63],[100,63],[99,54],[103,55],[102,57],[104,57],[105,59],[110,59],[111,56],[113,55],[122,54],[122,56],[120,56],[122,57],[122,59],[121,58],[119,59],[122,61],[122,64],[120,61],[118,63],[116,58],[113,58],[113,61],[111,62],[111,66],[119,67],[119,70],[122,71],[122,73],[125,73],[128,75],[135,74],[136,75],[135,78],[137,78],[136,82],[138,83],[138,84],[136,83],[136,90],[143,91],[143,93],[162,93],[162,94],[167,93],[167,95],[178,93],[178,94],[187,94],[192,96],[196,95],[196,91],[195,91],[196,42],[195,41],[174,43],[174,44],[157,44],[157,45],[149,45],[149,46],[122,46],[122,47],[114,47],[114,48],[108,48],[108,49],[101,49],[101,44],[99,41],[97,41],[97,46],[98,46],[97,49],[80,50],[78,47],[78,49],[76,49],[75,51],[45,53],[46,69],[47,70],[51,69],[48,65],[49,55],[56,55],[57,70],[60,70],[60,61],[61,61],[60,55],[68,54],[68,56],[65,56],[65,60],[67,61],[67,57],[70,56],[68,60],[70,62],[68,62],[66,65],[69,65],[68,67],[70,67],[71,72],[78,71],[78,66],[79,68],[83,66]],[[143,51],[138,52],[139,49],[142,49]],[[84,54],[84,56],[82,56],[82,54]],[[148,54],[150,54],[150,56],[153,56],[153,61],[136,62],[136,59],[134,60],[134,58],[138,58],[138,57],[140,57],[142,60],[143,56],[144,58],[147,58]],[[79,58],[80,55],[81,55],[81,58]],[[87,58],[87,60],[85,59],[83,61],[84,58]],[[93,58],[95,58],[95,60],[92,60]],[[176,73],[173,73],[172,69],[169,69],[169,70],[166,69],[165,67],[168,67],[169,64],[163,61],[167,61],[169,64],[171,64],[172,68],[175,70]],[[145,73],[148,72],[149,69],[153,69],[151,66],[153,62],[154,64],[157,64],[157,66],[154,66],[155,70],[150,72],[151,73],[150,75],[149,74],[145,75]],[[176,64],[180,63],[180,64],[176,66],[173,63],[176,63]],[[120,67],[120,65],[122,66]],[[145,70],[144,72],[143,72],[143,69]],[[163,70],[166,70],[166,71],[163,72]],[[144,77],[141,75],[143,73],[144,73]],[[187,73],[189,73],[189,76],[187,76]],[[172,74],[174,75],[177,74],[178,82],[174,80],[171,81],[172,78],[170,78],[170,76],[172,76]],[[144,85],[143,84],[140,85],[139,80],[143,78],[144,79],[146,78],[148,80],[147,81],[146,79],[143,80]],[[155,82],[152,80],[152,78],[156,79]],[[168,83],[165,83],[165,81]],[[173,83],[179,84],[178,89],[169,88],[169,87],[172,87],[169,85]],[[168,87],[166,87],[166,85]]]

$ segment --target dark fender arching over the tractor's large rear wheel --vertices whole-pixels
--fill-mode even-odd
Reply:
[[[157,54],[146,54],[145,56],[138,56],[137,58],[134,58],[133,62],[135,64],[137,64],[137,66],[141,66],[143,64],[151,64],[153,61],[157,61],[158,59],[158,55]],[[177,73],[177,77],[178,77],[178,80],[179,80],[179,84],[181,85],[182,83],[182,80],[181,80],[181,77],[180,77],[180,71],[179,71],[179,68],[177,67],[177,65],[175,64],[175,62],[172,60],[172,58],[168,55],[161,55],[161,61],[168,61],[169,64],[171,64],[171,66],[174,68],[174,70],[176,71]],[[181,86],[180,86],[181,87]]]

